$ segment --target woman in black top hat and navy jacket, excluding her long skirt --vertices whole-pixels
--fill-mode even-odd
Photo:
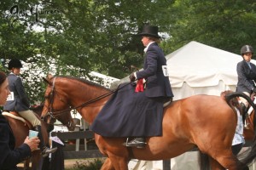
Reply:
[[[172,88],[169,81],[169,75],[166,65],[166,57],[162,49],[158,46],[160,36],[158,35],[158,26],[144,26],[143,32],[139,34],[142,37],[144,52],[146,53],[143,65],[143,71],[137,71],[131,74],[130,80],[144,79],[145,95],[148,98],[156,99],[161,102],[172,100]],[[135,138],[127,146],[143,147],[144,138]]]

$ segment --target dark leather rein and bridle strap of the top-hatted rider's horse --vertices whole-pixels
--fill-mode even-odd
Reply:
[[[66,111],[71,111],[71,110],[73,110],[73,109],[78,109],[78,108],[80,108],[80,107],[84,107],[85,105],[90,105],[91,103],[96,102],[96,101],[98,101],[98,100],[100,100],[100,99],[104,99],[104,98],[108,97],[109,95],[111,95],[111,94],[117,92],[119,89],[125,88],[127,85],[129,85],[129,84],[132,83],[132,82],[128,82],[128,83],[126,83],[126,84],[125,84],[123,87],[121,87],[121,88],[118,87],[118,88],[115,88],[115,89],[113,89],[113,90],[110,90],[108,93],[102,94],[102,95],[96,97],[95,99],[90,99],[89,101],[86,101],[86,102],[84,102],[84,103],[81,104],[81,105],[77,105],[77,106],[74,106],[74,107],[70,107],[70,108],[65,109],[65,110],[62,110],[62,111],[53,111],[53,103],[54,103],[54,102],[53,102],[53,99],[54,99],[54,92],[55,92],[55,79],[56,79],[56,77],[54,77],[53,85],[52,85],[51,92],[50,92],[50,100],[49,100],[50,106],[49,106],[49,112],[45,115],[45,116],[50,116],[50,118],[52,118],[52,119],[55,119],[55,116],[61,116],[61,115],[64,114]],[[60,100],[61,100],[61,99],[60,99]],[[61,101],[62,101],[62,100],[61,100]]]

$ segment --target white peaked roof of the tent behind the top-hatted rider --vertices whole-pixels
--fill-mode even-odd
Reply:
[[[172,54],[166,55],[170,82],[173,88],[216,86],[237,83],[236,65],[241,55],[212,48],[200,42],[189,42]]]

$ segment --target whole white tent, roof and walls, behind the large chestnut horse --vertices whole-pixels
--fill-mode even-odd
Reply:
[[[195,94],[219,96],[224,90],[236,91],[236,65],[242,60],[241,55],[199,42],[189,42],[166,55],[166,59],[174,100]],[[255,60],[252,62],[256,63]],[[127,81],[127,77],[121,82],[124,81]],[[172,158],[171,167],[173,170],[199,169],[197,153],[187,152]],[[156,170],[162,169],[162,164],[160,161],[131,161],[129,169]]]

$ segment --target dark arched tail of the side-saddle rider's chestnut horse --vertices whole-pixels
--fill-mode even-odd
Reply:
[[[225,100],[227,101],[228,105],[230,105],[230,99],[235,98],[235,97],[242,97],[244,99],[247,99],[249,104],[253,107],[253,110],[256,111],[256,106],[253,103],[253,100],[249,98],[246,94],[243,93],[231,93],[231,94],[226,94]],[[254,134],[255,136],[255,134]],[[248,165],[253,161],[253,159],[256,157],[256,138],[254,137],[253,139],[253,144],[251,146],[251,149],[248,151],[247,156],[241,159],[241,162],[244,163],[245,165]]]

